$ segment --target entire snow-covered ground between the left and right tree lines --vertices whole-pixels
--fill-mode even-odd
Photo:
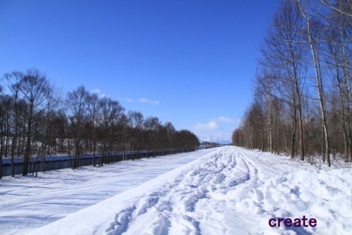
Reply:
[[[0,234],[352,234],[349,166],[225,146],[5,177]]]

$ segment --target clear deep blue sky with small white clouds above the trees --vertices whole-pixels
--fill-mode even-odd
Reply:
[[[38,68],[199,137],[231,138],[278,1],[0,0],[0,75]]]

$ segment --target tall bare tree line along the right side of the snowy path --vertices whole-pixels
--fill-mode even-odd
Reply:
[[[352,160],[350,0],[283,0],[260,47],[237,146]]]

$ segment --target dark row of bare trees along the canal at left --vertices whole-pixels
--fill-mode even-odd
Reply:
[[[199,146],[192,132],[177,131],[171,122],[144,118],[138,111],[126,112],[118,101],[83,86],[62,97],[35,68],[6,73],[1,83],[0,178],[3,158],[11,158],[14,177],[16,157],[23,158],[26,175],[34,173],[34,161],[40,162],[37,170],[44,171],[47,155],[68,154],[71,167],[77,168],[84,153],[92,153],[93,165],[102,166],[112,163],[116,153],[130,153],[135,159],[142,152],[155,156]]]

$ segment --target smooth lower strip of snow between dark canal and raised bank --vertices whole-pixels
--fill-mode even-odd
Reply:
[[[25,234],[190,163],[213,150],[0,179],[0,234]]]

